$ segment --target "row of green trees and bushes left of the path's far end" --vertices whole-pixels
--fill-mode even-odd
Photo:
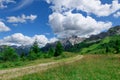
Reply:
[[[50,48],[47,52],[42,52],[39,48],[38,42],[35,41],[31,46],[29,53],[18,54],[16,50],[10,46],[4,46],[4,49],[0,52],[0,62],[6,61],[25,61],[35,60],[40,58],[50,58],[62,55],[63,46],[60,41],[57,42],[55,48]]]

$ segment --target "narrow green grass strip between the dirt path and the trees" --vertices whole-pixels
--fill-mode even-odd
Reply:
[[[41,58],[41,59],[32,60],[32,61],[25,60],[25,61],[15,61],[15,62],[4,62],[4,63],[0,63],[0,70],[17,68],[17,67],[32,66],[32,65],[37,65],[40,63],[48,63],[48,62],[53,62],[53,61],[64,59],[64,58],[73,57],[75,55],[76,54],[64,52],[62,55],[60,55],[58,57]]]

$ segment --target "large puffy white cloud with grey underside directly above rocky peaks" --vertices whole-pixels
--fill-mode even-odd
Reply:
[[[49,23],[58,37],[70,37],[72,35],[88,37],[112,26],[111,22],[96,21],[90,16],[84,17],[80,13],[73,14],[71,12],[65,14],[54,12],[49,16]]]

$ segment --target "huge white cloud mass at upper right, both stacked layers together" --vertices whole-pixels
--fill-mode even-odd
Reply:
[[[120,9],[118,0],[113,0],[111,4],[102,4],[100,0],[46,0],[46,2],[51,4],[50,8],[53,11],[49,15],[49,24],[60,38],[72,35],[89,37],[112,26],[112,22],[98,21],[90,15],[82,15],[79,11],[96,16],[109,16]]]

